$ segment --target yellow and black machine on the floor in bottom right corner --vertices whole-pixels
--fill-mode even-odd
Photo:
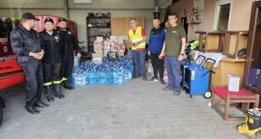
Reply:
[[[261,113],[250,109],[246,111],[246,124],[237,125],[237,131],[248,138],[257,138],[260,130]]]

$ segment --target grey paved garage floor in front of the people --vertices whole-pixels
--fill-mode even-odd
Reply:
[[[151,76],[148,76],[150,79]],[[209,107],[211,99],[181,91],[163,92],[160,82],[141,78],[123,86],[86,85],[73,91],[62,89],[65,98],[47,102],[38,115],[24,110],[25,84],[8,89],[3,96],[0,139],[35,138],[246,138],[236,125],[225,122]],[[2,90],[1,90],[2,91]]]

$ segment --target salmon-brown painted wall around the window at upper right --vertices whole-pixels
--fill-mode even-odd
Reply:
[[[206,26],[206,31],[213,31],[215,12],[216,12],[216,2],[222,0],[205,0],[204,5],[204,20],[202,23]],[[230,19],[230,31],[248,31],[251,7],[253,0],[232,0],[232,15]],[[185,9],[186,13],[192,12],[194,6],[194,0],[180,0],[174,3],[171,7],[171,11],[176,8],[180,8],[180,17],[185,17],[182,14],[182,10]],[[198,40],[199,34],[195,34],[193,30],[193,24],[188,25],[188,41]]]

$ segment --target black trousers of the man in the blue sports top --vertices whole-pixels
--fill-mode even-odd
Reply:
[[[163,79],[164,61],[159,59],[160,53],[150,52],[151,64],[153,65],[153,74],[157,78],[157,73],[160,74],[160,79]]]

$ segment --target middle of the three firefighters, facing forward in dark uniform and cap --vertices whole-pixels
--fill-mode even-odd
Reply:
[[[55,87],[55,97],[64,98],[61,93],[59,71],[61,68],[62,38],[54,30],[54,22],[51,18],[44,20],[43,31],[39,36],[45,45],[45,54],[42,59],[43,64],[43,87],[46,90],[47,101],[54,101],[52,97],[52,85]]]

